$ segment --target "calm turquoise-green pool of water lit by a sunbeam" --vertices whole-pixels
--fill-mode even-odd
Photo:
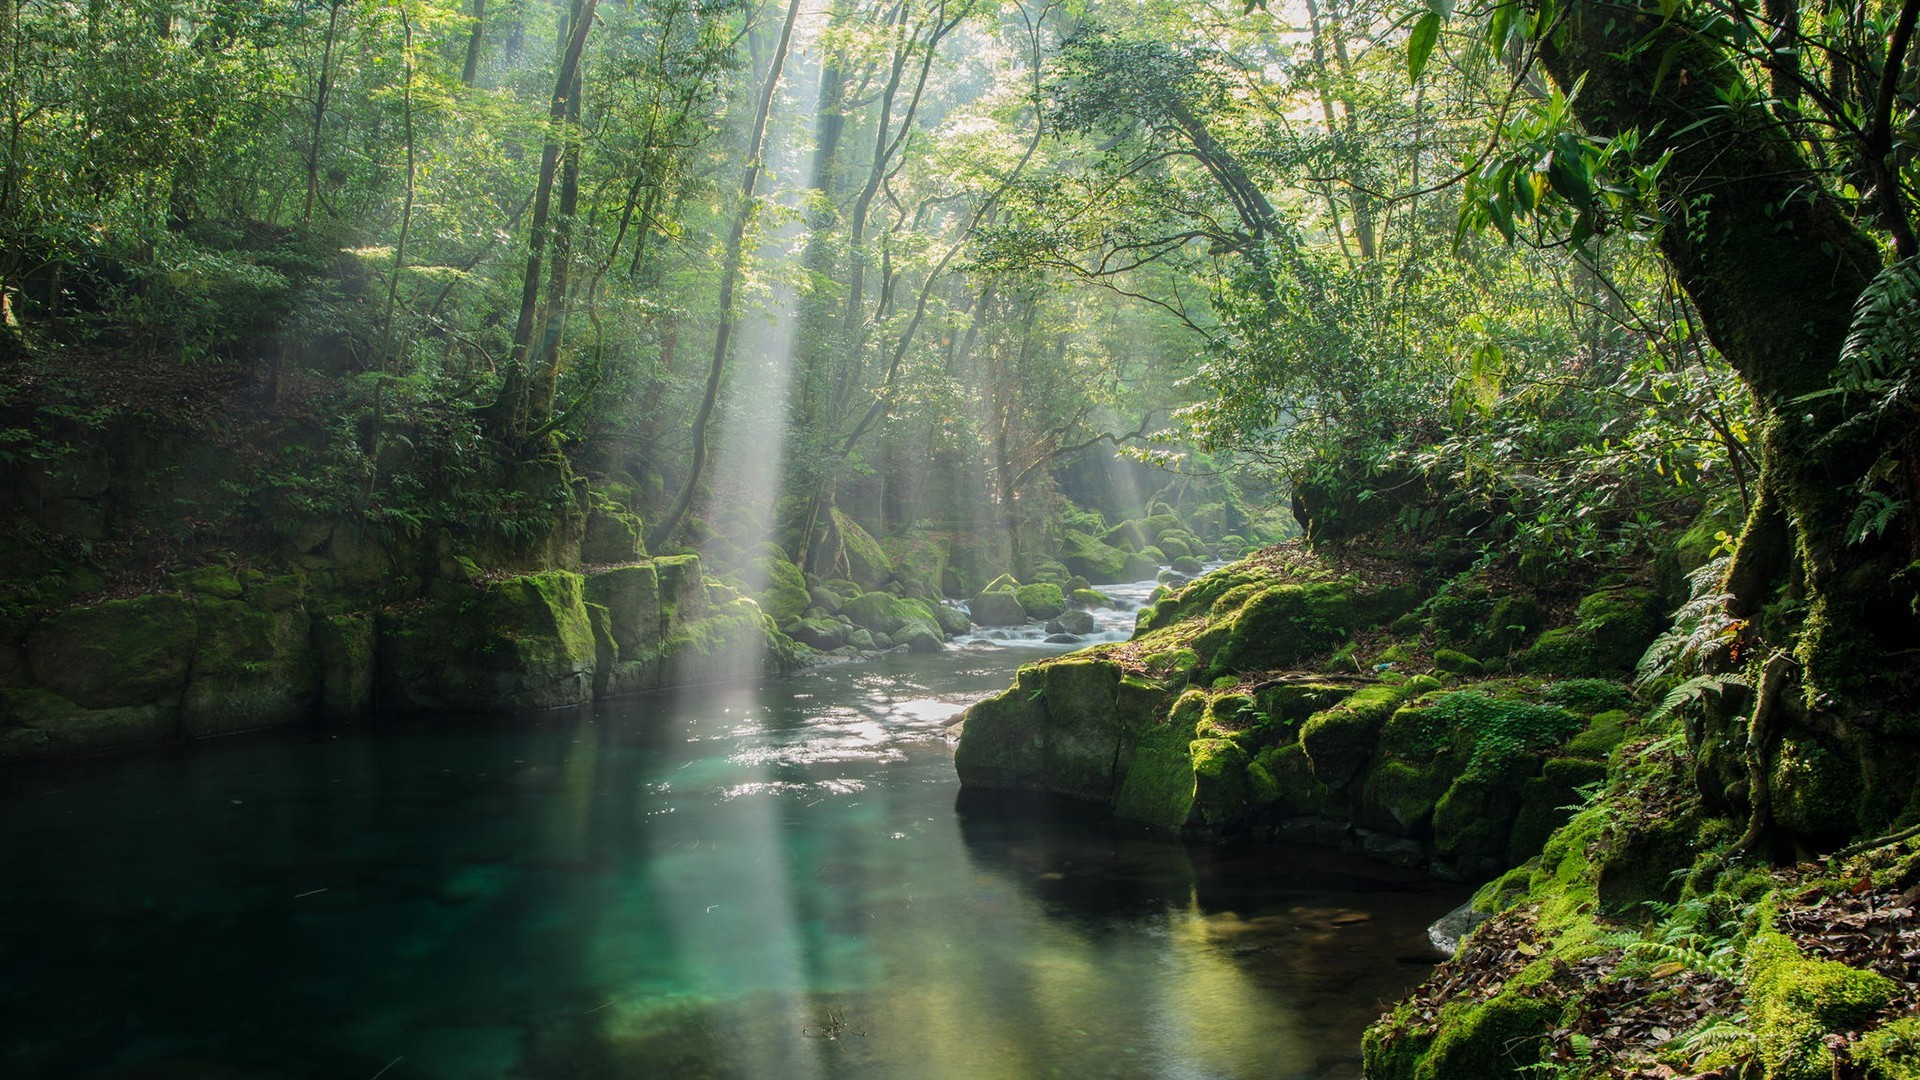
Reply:
[[[0,1074],[1357,1076],[1459,892],[956,809],[1031,657],[0,773]]]

